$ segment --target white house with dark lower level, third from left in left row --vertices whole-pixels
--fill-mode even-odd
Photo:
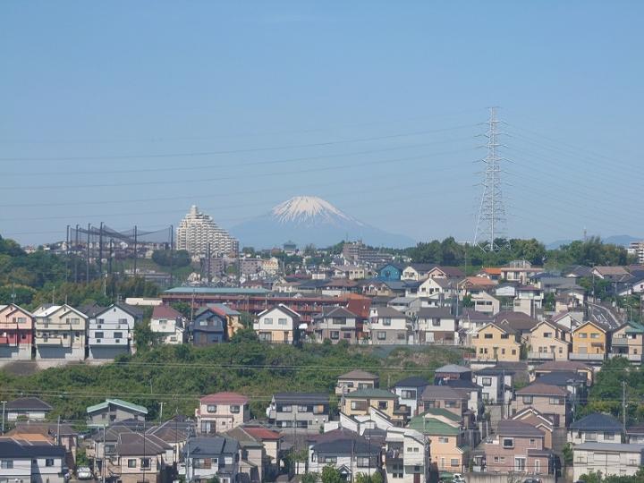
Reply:
[[[143,312],[124,303],[99,309],[89,318],[88,359],[113,360],[135,352],[134,326],[143,321]]]

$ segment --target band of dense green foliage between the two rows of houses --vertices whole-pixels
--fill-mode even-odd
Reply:
[[[0,398],[38,394],[54,406],[52,418],[83,420],[90,404],[120,397],[146,406],[150,418],[157,419],[160,402],[168,418],[175,411],[193,415],[199,395],[238,391],[250,396],[251,412],[262,417],[275,392],[333,394],[336,378],[352,369],[370,370],[389,386],[411,375],[432,378],[437,366],[461,359],[458,350],[436,347],[391,351],[325,343],[300,349],[259,343],[243,331],[231,343],[150,347],[102,366],[79,363],[29,376],[13,376],[5,368],[0,370]]]

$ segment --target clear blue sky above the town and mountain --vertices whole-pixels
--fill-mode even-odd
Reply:
[[[510,236],[644,236],[641,2],[0,4],[0,233],[224,227],[317,195],[470,240],[487,106]],[[243,241],[242,241],[243,242]]]

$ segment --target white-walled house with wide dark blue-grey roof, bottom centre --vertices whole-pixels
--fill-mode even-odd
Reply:
[[[309,445],[309,472],[322,473],[326,466],[333,466],[345,481],[354,481],[358,473],[373,475],[380,461],[380,445],[345,428],[326,432]]]

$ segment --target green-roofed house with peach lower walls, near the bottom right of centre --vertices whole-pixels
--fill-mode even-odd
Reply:
[[[461,421],[453,412],[433,409],[411,418],[407,428],[428,436],[432,461],[440,471],[460,473],[465,462],[464,437]]]

